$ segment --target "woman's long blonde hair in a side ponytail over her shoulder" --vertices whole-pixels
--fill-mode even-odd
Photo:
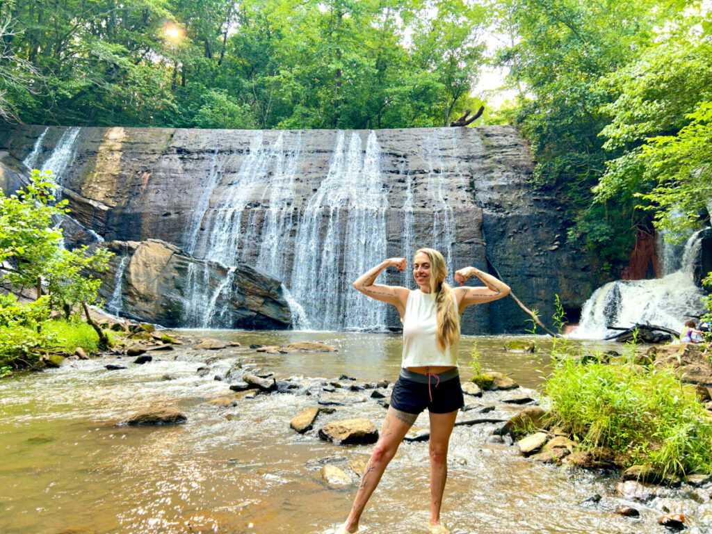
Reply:
[[[455,306],[453,290],[445,283],[447,276],[445,258],[433,248],[420,248],[413,257],[421,252],[430,259],[430,292],[435,295],[437,306],[438,328],[435,333],[435,343],[439,350],[445,352],[460,337],[460,314]]]

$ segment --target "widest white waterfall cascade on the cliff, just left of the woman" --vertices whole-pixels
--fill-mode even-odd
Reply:
[[[291,290],[298,302],[310,303],[305,311],[314,328],[382,328],[383,306],[350,287],[386,253],[380,150],[375,132],[365,155],[358,132],[347,149],[345,137],[338,132],[327,175],[300,217]]]

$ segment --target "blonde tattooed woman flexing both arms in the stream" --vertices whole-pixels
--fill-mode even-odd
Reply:
[[[336,534],[355,533],[361,513],[407,431],[425,408],[430,417],[430,523],[433,533],[447,533],[440,523],[440,506],[447,478],[447,450],[458,410],[463,406],[457,367],[460,315],[473,304],[491,302],[509,293],[497,278],[474,267],[455,273],[465,283],[476,276],[485,288],[451,288],[442,254],[421,248],[413,258],[418,289],[374,283],[387,267],[406,268],[405,258],[390,258],[354,282],[364,295],[398,308],[403,323],[402,370],[394,385],[391,404],[378,443],[361,477],[351,513]]]

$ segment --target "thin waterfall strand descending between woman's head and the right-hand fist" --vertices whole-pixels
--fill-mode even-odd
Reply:
[[[442,155],[441,140],[443,129],[432,130],[426,142],[426,156],[428,162],[427,188],[433,202],[433,234],[432,248],[439,251],[450,266],[454,269],[453,246],[455,243],[455,216],[448,201],[445,199],[446,188],[444,171],[445,162]],[[446,130],[448,131],[448,130]],[[453,142],[456,142],[453,139]],[[449,281],[452,284],[452,272]]]

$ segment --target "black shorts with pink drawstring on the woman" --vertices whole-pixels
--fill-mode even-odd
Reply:
[[[433,414],[449,414],[465,405],[459,375],[439,383],[436,377],[429,378],[430,384],[399,376],[390,405],[407,414],[419,414],[426,408]]]

